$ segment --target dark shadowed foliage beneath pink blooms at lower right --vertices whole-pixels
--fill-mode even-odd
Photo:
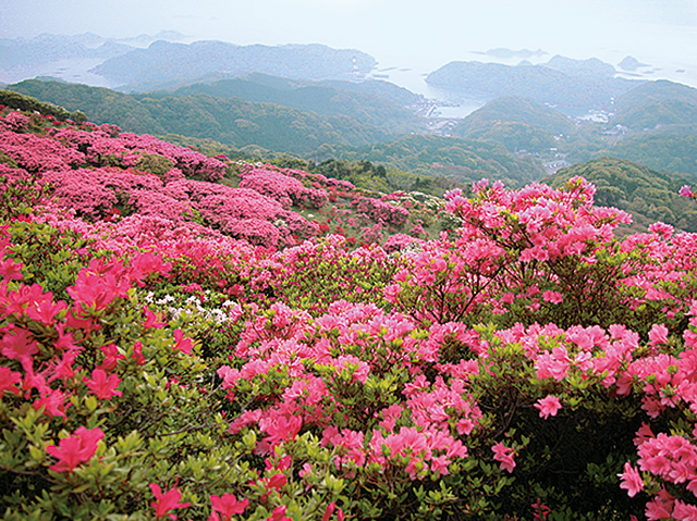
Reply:
[[[478,331],[490,332],[478,326]],[[557,520],[625,520],[640,516],[645,501],[620,491],[619,473],[633,457],[633,438],[645,419],[634,400],[611,398],[579,379],[577,386],[562,388],[540,381],[522,350],[497,345],[491,349],[491,370],[477,385],[482,412],[501,425],[497,435],[518,446],[521,458],[512,486],[504,487],[486,519],[531,512],[530,505],[551,508]],[[542,420],[533,404],[539,396],[564,395],[572,407]],[[568,512],[564,517],[562,512]],[[542,519],[540,517],[540,519]]]

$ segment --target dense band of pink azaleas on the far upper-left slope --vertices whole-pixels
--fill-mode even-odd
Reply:
[[[305,188],[294,177],[267,169],[252,169],[249,183],[261,193],[244,186],[231,188],[211,183],[221,178],[225,170],[218,159],[151,136],[121,133],[113,125],[93,125],[90,131],[68,125],[50,128],[45,136],[21,134],[12,123],[20,121],[20,116],[22,114],[14,112],[5,116],[10,121],[0,127],[0,151],[21,169],[2,164],[0,174],[8,181],[37,175],[54,196],[48,204],[51,213],[69,209],[91,222],[118,222],[121,228],[131,223],[158,223],[171,230],[186,230],[189,236],[201,233],[195,220],[203,219],[223,234],[265,247],[296,244],[318,232],[317,224],[285,210],[286,200],[281,198],[279,202],[262,194],[280,187],[286,199],[293,197],[299,201],[306,197],[318,204],[326,202],[323,190]],[[138,171],[138,161],[148,154],[169,160],[175,166],[164,175]],[[131,216],[130,221],[121,222]],[[64,221],[64,218],[47,218],[56,224]],[[215,234],[212,230],[204,233]],[[103,236],[103,233],[96,235]]]

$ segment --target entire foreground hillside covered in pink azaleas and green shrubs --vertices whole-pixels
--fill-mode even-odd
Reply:
[[[9,110],[0,176],[4,519],[697,518],[697,236],[615,238],[583,178],[427,239],[402,194]]]

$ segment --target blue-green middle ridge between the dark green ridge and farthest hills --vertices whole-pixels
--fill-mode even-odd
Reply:
[[[362,85],[370,83],[374,80],[364,82]],[[333,85],[353,86],[348,82],[335,82]],[[367,88],[365,90],[379,92],[381,89]],[[295,82],[260,73],[244,78],[221,79],[210,84],[198,83],[176,89],[169,96],[195,94],[276,103],[326,116],[348,116],[393,134],[416,132],[420,127],[420,122],[414,112],[379,95],[365,94],[357,89],[345,90],[328,85]],[[152,97],[154,95],[144,96]]]

